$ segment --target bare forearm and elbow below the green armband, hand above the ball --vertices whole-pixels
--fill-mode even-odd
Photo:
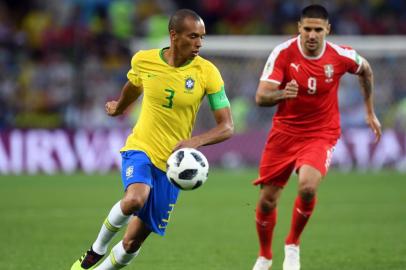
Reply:
[[[209,145],[229,139],[234,133],[234,124],[231,117],[230,107],[213,111],[217,125],[205,133],[193,136],[189,140],[180,141],[174,151],[183,147],[198,148],[202,145]]]

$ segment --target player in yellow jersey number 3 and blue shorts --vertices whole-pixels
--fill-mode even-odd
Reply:
[[[106,103],[107,114],[117,116],[143,94],[141,115],[121,149],[124,197],[72,270],[121,269],[137,256],[151,232],[164,235],[179,192],[166,179],[169,155],[178,148],[198,148],[231,137],[233,122],[224,82],[217,68],[198,56],[204,35],[199,15],[178,10],[169,21],[170,47],[136,53],[120,98]],[[191,137],[205,95],[217,124]],[[122,241],[95,267],[115,233],[127,223]]]

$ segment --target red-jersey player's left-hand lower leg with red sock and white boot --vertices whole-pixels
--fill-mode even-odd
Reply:
[[[259,254],[253,270],[268,270],[272,265],[272,237],[276,224],[277,203],[282,188],[271,184],[262,185],[256,208],[256,228]]]

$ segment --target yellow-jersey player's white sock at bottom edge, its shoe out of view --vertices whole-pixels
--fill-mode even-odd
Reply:
[[[121,269],[130,264],[131,260],[134,259],[139,252],[140,249],[134,253],[127,253],[123,247],[123,241],[120,241],[111,249],[110,255],[94,270]]]

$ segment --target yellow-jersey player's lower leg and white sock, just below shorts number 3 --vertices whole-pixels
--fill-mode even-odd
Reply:
[[[112,248],[109,257],[95,270],[115,270],[127,266],[138,255],[142,243],[150,233],[151,230],[145,223],[134,217],[128,224],[123,240]]]

